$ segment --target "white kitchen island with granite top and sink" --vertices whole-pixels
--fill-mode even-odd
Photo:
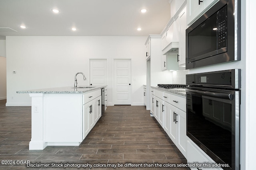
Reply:
[[[47,146],[78,146],[101,117],[101,88],[60,87],[24,90],[31,103],[29,150]]]

